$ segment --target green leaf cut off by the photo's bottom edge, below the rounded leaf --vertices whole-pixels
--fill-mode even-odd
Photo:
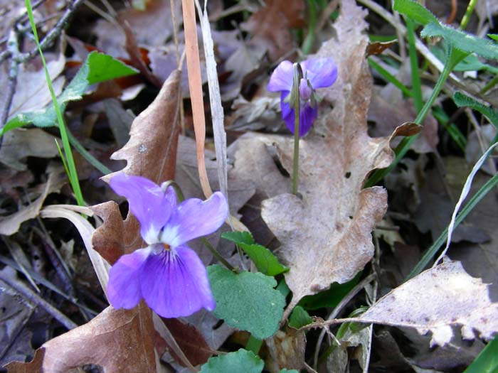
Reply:
[[[261,373],[265,363],[253,352],[241,348],[226,355],[210,357],[201,373]]]

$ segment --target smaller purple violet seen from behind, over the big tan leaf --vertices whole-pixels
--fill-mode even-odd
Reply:
[[[287,128],[294,133],[294,109],[290,107],[290,91],[293,85],[293,64],[290,61],[282,61],[272,72],[268,90],[270,92],[280,91],[280,107],[282,119]],[[303,77],[300,81],[300,136],[307,134],[311,129],[314,119],[317,118],[318,104],[315,90],[333,85],[337,80],[337,66],[332,58],[317,58],[305,60],[300,63]]]

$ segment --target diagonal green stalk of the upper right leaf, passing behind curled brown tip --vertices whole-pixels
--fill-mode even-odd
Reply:
[[[430,94],[428,101],[425,102],[422,110],[420,110],[418,116],[415,118],[415,123],[419,126],[422,125],[422,122],[430,111],[430,108],[433,107],[435,99],[443,89],[443,85],[445,84],[447,77],[450,76],[450,72],[453,70],[453,67],[455,67],[455,65],[460,62],[455,61],[453,58],[451,58],[451,56],[452,51],[450,51],[450,53],[448,54],[445,66],[443,67],[443,71],[438,78],[438,82],[436,82],[435,84],[433,92]],[[418,139],[418,136],[420,136],[420,134],[405,137],[403,140],[401,140],[401,142],[398,144],[398,146],[396,146],[396,149],[394,150],[394,152],[396,153],[396,158],[394,159],[393,163],[391,163],[391,165],[389,165],[387,168],[381,168],[380,170],[374,171],[369,180],[366,181],[364,188],[369,188],[373,185],[376,185],[376,183],[381,181],[384,176],[390,173],[391,170],[396,167],[399,161],[401,161],[401,158],[403,158],[403,156],[405,156],[405,154],[408,152],[408,149],[410,149],[410,146],[413,144],[413,142]]]

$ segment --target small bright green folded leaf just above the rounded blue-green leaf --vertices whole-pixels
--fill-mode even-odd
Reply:
[[[268,276],[277,276],[289,271],[286,266],[280,264],[277,256],[273,255],[266,247],[256,244],[249,232],[225,232],[221,237],[238,244],[245,254],[248,254],[258,271]]]

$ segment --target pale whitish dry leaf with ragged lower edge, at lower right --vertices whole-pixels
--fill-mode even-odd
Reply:
[[[371,323],[415,328],[433,333],[430,345],[450,342],[452,327],[465,339],[475,331],[485,340],[498,333],[498,303],[489,299],[488,286],[467,274],[460,261],[424,271],[381,298],[360,319]]]

